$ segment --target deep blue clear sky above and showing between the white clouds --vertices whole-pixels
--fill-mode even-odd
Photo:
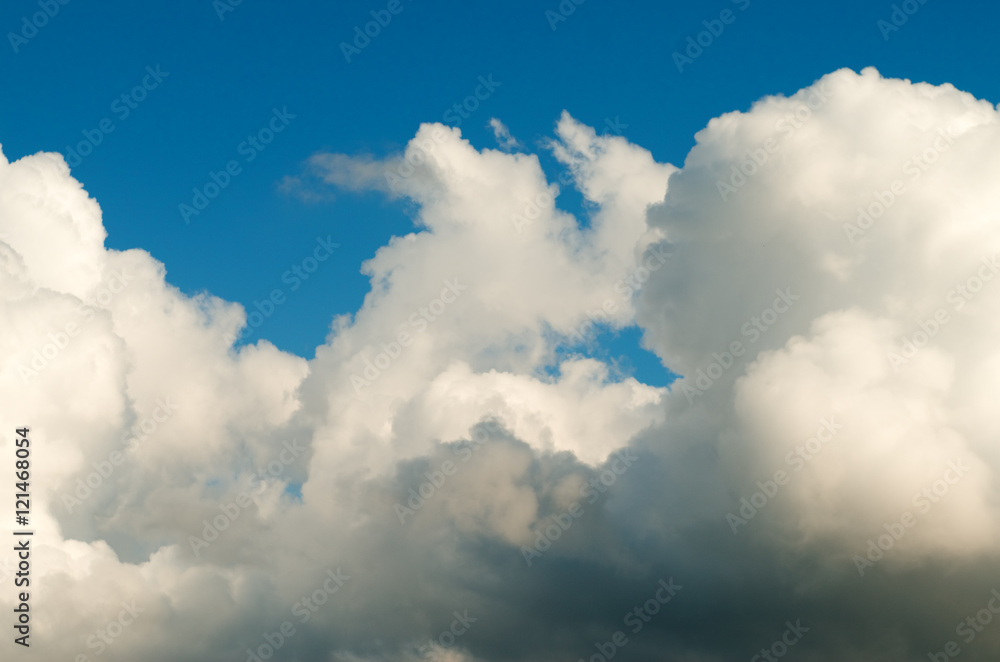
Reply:
[[[282,275],[312,253],[317,237],[331,237],[340,244],[333,259],[254,332],[311,357],[331,317],[361,304],[361,262],[413,227],[411,210],[376,193],[331,191],[331,199],[305,203],[278,182],[320,150],[400,150],[419,123],[454,120],[449,108],[480,77],[499,85],[461,122],[479,148],[495,146],[486,124],[497,117],[537,150],[566,109],[599,131],[617,122],[629,140],[677,165],[710,118],[840,67],[873,65],[883,76],[1000,98],[986,64],[997,61],[1000,10],[982,3],[946,8],[931,0],[885,39],[878,21],[890,19],[892,3],[587,0],[553,29],[546,12],[558,11],[555,0],[402,0],[347,62],[340,44],[387,5],[244,0],[222,20],[209,0],[58,5],[37,34],[5,40],[4,152],[11,160],[67,154],[82,132],[102,135],[73,174],[101,204],[107,245],[145,248],[183,291],[208,290],[248,309],[283,287]],[[727,9],[731,22],[679,72],[672,54]],[[38,11],[34,1],[4,3],[0,26],[19,33],[23,17]],[[163,73],[150,78],[147,67]],[[120,97],[144,79],[152,89],[126,116]],[[248,148],[244,141],[274,109],[294,118],[263,150]],[[104,118],[113,126],[106,135]],[[178,206],[230,160],[241,163],[239,174],[186,224]],[[558,172],[552,159],[543,165]],[[560,204],[579,212],[577,200],[564,195]],[[638,338],[626,332],[603,345],[637,377],[665,383]]]

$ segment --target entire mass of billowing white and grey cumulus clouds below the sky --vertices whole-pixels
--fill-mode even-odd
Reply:
[[[106,249],[61,157],[0,157],[32,655],[590,659],[621,631],[622,659],[723,660],[788,621],[802,659],[943,649],[1000,552],[998,127],[866,69],[711,120],[681,168],[569,114],[556,181],[439,124],[317,154],[310,186],[418,214],[310,361]],[[670,387],[565,351],[631,325]]]

